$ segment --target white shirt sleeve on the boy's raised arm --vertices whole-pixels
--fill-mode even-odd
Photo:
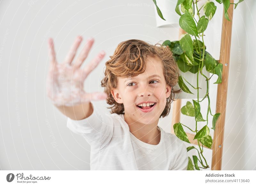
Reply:
[[[110,115],[100,113],[94,103],[92,107],[92,114],[85,119],[68,118],[67,127],[75,134],[83,136],[92,149],[100,150],[113,136],[114,121]]]

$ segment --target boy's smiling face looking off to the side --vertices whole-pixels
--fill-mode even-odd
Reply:
[[[130,78],[117,78],[118,85],[111,91],[117,103],[124,104],[124,118],[130,122],[151,124],[158,122],[164,111],[166,98],[171,87],[166,84],[163,63],[157,57],[148,57],[146,69],[142,74]],[[149,109],[138,107],[140,103],[155,103]],[[144,105],[147,106],[147,105]]]

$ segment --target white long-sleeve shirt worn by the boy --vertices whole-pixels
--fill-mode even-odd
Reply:
[[[132,135],[124,114],[103,114],[93,105],[92,115],[68,118],[67,127],[91,145],[91,170],[187,170],[184,142],[159,126],[160,143],[144,143]]]

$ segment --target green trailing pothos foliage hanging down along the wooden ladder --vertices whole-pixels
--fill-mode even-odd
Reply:
[[[241,3],[244,0],[239,0],[235,4],[235,8],[237,4]],[[153,0],[154,4],[156,5],[156,0]],[[230,6],[230,0],[216,0],[217,3],[223,4],[224,7],[224,16],[227,20],[229,20],[228,17],[228,8]],[[189,146],[187,148],[187,151],[190,151],[192,149],[195,149],[198,152],[198,156],[193,155],[193,162],[190,157],[188,157],[188,170],[200,170],[200,168],[206,169],[209,168],[209,165],[207,164],[206,159],[203,155],[203,146],[208,147],[211,149],[212,147],[212,137],[210,136],[210,129],[208,127],[208,115],[209,113],[213,116],[212,119],[212,128],[215,130],[216,121],[218,120],[220,113],[212,114],[211,106],[210,106],[210,97],[209,97],[209,80],[212,78],[208,78],[205,74],[203,74],[203,68],[205,66],[205,69],[212,73],[212,75],[216,74],[218,76],[218,79],[214,84],[218,84],[222,82],[222,64],[219,63],[217,60],[215,60],[211,54],[209,54],[206,51],[206,46],[204,45],[204,31],[207,28],[208,22],[212,19],[213,15],[216,12],[216,6],[214,2],[212,1],[206,1],[205,4],[198,8],[197,6],[198,0],[177,0],[177,5],[175,7],[175,12],[177,12],[180,15],[179,25],[180,27],[187,32],[187,34],[183,35],[180,39],[180,41],[164,41],[164,46],[169,46],[170,50],[173,53],[173,58],[177,62],[177,65],[179,69],[186,73],[193,73],[197,74],[197,86],[194,87],[191,85],[184,77],[181,75],[179,76],[179,86],[180,88],[189,94],[193,94],[186,83],[188,83],[191,88],[197,89],[197,99],[192,100],[193,103],[187,102],[185,106],[181,108],[181,113],[187,116],[191,116],[195,118],[196,121],[196,129],[192,130],[188,128],[186,125],[182,123],[175,123],[173,125],[174,133],[175,135],[180,138],[181,140],[185,142],[189,142],[188,136],[186,132],[183,129],[184,127],[187,127],[189,130],[191,130],[195,134],[194,140],[197,140],[199,150],[194,146]],[[204,15],[200,16],[199,11],[203,8]],[[156,5],[156,10],[158,15],[164,19],[162,12]],[[183,12],[183,14],[180,12]],[[198,16],[198,22],[195,19],[195,16]],[[165,20],[165,19],[164,19]],[[230,21],[230,20],[229,20]],[[192,40],[192,38],[193,40]],[[198,75],[199,73],[204,76],[206,81],[206,94],[205,96],[199,100],[199,89],[198,86]],[[186,83],[184,82],[186,81]],[[206,120],[204,120],[204,117],[202,116],[200,112],[200,102],[204,100],[204,98],[208,99],[208,109],[207,109],[207,115]],[[199,121],[206,121],[206,125],[198,129],[197,128],[197,122]],[[200,143],[202,143],[202,148],[200,146]],[[204,161],[203,161],[204,159]],[[194,163],[194,164],[193,164]],[[201,164],[201,166],[200,166]],[[195,169],[194,169],[195,167]]]

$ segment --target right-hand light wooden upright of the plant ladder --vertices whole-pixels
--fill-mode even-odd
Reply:
[[[230,0],[230,3],[234,3],[234,0]],[[222,83],[218,84],[217,99],[216,99],[216,113],[220,112],[221,114],[218,121],[216,122],[216,127],[214,131],[213,144],[212,144],[211,170],[221,170],[226,105],[227,105],[227,92],[228,92],[228,73],[229,73],[233,10],[234,10],[234,4],[230,4],[230,7],[228,9],[228,16],[231,21],[228,21],[227,19],[225,19],[224,10],[223,10],[221,44],[220,44],[220,63],[223,64],[223,73],[222,73]]]

